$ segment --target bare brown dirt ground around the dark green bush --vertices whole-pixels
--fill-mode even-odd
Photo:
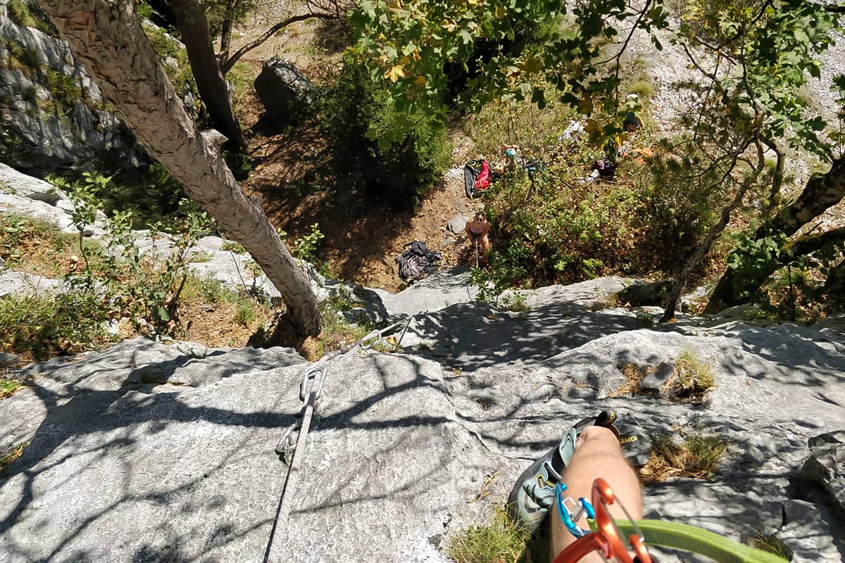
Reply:
[[[259,35],[266,25],[261,19],[249,22],[233,40],[232,51]],[[241,62],[248,63],[257,76],[265,60],[286,58],[319,83],[340,64],[343,45],[338,36],[331,24],[300,22],[248,52]],[[261,119],[264,108],[254,90],[243,96],[237,110],[248,130],[254,163],[242,184],[244,189],[260,199],[271,222],[285,230],[289,239],[306,235],[311,225],[319,224],[325,235],[318,248],[319,260],[328,262],[335,277],[397,290],[401,280],[395,258],[411,241],[424,241],[432,250],[442,252],[444,265],[467,260],[466,241],[443,245],[444,227],[450,219],[481,208],[480,202],[466,198],[462,174],[444,177],[428,192],[417,214],[397,212],[368,200],[363,187],[332,180],[333,149],[316,124],[274,130]],[[453,136],[457,146],[466,148],[466,138],[457,133]],[[460,159],[461,155],[455,157],[455,165]]]

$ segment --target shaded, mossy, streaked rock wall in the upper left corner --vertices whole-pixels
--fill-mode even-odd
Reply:
[[[105,153],[127,167],[147,156],[106,111],[100,89],[68,45],[8,18],[0,2],[0,160],[51,171]]]

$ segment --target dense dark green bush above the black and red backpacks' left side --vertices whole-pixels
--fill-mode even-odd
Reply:
[[[336,169],[373,198],[396,207],[418,203],[449,162],[444,125],[422,115],[399,115],[384,86],[357,62],[346,61],[318,107],[337,144]],[[389,138],[400,122],[408,123],[401,138]]]

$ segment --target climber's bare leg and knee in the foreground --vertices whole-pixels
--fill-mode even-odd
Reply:
[[[613,432],[607,428],[587,426],[581,432],[575,445],[575,453],[563,477],[566,493],[573,500],[581,496],[589,499],[592,493],[592,482],[597,477],[602,477],[613,489],[613,494],[630,512],[631,517],[642,517],[640,482],[636,478],[634,469],[625,459],[616,436],[613,436]],[[624,512],[618,504],[609,506],[609,509],[613,517],[624,518]],[[575,536],[560,520],[556,506],[550,512],[552,513],[552,560],[554,560],[567,545],[575,541]],[[587,528],[586,518],[582,518],[578,523],[581,528]],[[594,563],[602,561],[602,558],[594,554],[581,561]]]

